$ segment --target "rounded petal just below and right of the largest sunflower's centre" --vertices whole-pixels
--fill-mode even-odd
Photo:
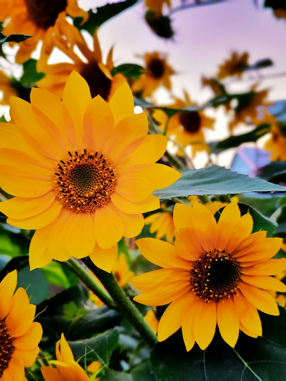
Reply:
[[[102,249],[113,247],[124,232],[121,218],[108,205],[95,211],[94,229],[96,242]]]

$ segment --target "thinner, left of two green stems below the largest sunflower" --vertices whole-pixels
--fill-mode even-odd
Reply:
[[[104,304],[106,304],[106,306],[111,309],[115,308],[113,299],[110,298],[110,296],[107,295],[102,288],[100,288],[91,275],[84,270],[76,259],[70,258],[68,261],[62,262],[62,265],[77,275],[79,279],[89,288],[89,290],[91,290]]]

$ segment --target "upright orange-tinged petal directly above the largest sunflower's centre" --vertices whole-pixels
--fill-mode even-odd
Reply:
[[[92,99],[83,117],[86,147],[102,150],[105,142],[113,134],[114,120],[107,103],[99,95]]]

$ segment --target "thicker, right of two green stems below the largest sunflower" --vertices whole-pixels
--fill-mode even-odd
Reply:
[[[121,312],[121,314],[129,320],[133,327],[137,329],[145,343],[148,344],[149,347],[153,348],[157,343],[157,336],[145,322],[143,316],[140,314],[132,301],[130,301],[122,288],[119,287],[114,275],[96,267],[89,257],[82,258],[81,261],[86,264],[86,266],[103,284],[103,287],[106,288],[110,296],[116,302],[118,311]]]

